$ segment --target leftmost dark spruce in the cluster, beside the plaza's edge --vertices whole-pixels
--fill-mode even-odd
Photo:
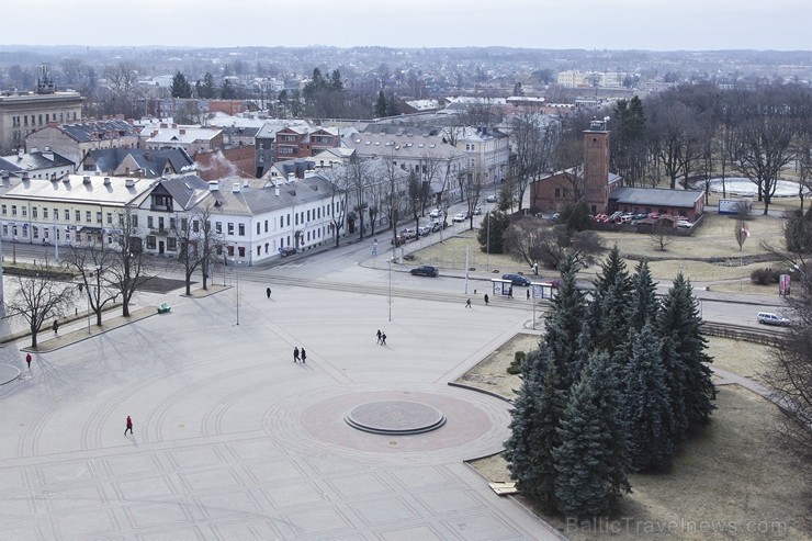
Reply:
[[[543,345],[522,365],[522,384],[514,403],[505,459],[519,491],[546,510],[554,510],[556,470],[553,449],[564,409],[555,362]]]

